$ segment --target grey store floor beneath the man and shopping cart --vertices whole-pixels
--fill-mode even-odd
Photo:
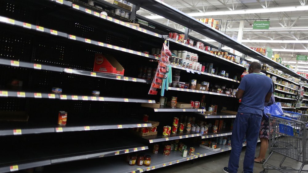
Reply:
[[[256,150],[256,156],[259,153],[260,149],[260,144],[257,145],[257,150]],[[244,154],[245,154],[246,147],[243,147],[243,151],[240,157],[240,165],[238,172],[241,173],[243,171],[243,160],[244,160]],[[152,173],[187,173],[187,172],[196,172],[196,173],[223,173],[222,169],[223,167],[228,165],[228,160],[229,160],[229,154],[230,152],[225,152],[225,153],[219,153],[215,155],[209,155],[205,156],[202,158],[195,159],[194,164],[191,164],[191,162],[183,162],[180,164],[175,164],[172,166],[164,167],[163,169],[157,169],[151,171]],[[267,153],[267,156],[269,154]],[[279,155],[277,153],[274,153],[274,155],[271,157],[270,163],[273,165],[279,166],[279,163],[282,160],[282,155]],[[301,163],[290,159],[286,158],[286,161],[284,162],[284,166],[290,166],[293,168],[298,169],[301,165]],[[304,167],[304,169],[308,169],[308,165]],[[262,164],[260,163],[255,163],[254,164],[254,169],[255,173],[259,173],[260,171],[263,170]],[[269,171],[269,173],[276,173],[279,171]]]

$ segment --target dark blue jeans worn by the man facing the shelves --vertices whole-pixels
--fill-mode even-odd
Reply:
[[[229,173],[237,173],[238,162],[242,151],[242,143],[246,135],[247,148],[244,158],[244,173],[253,173],[254,155],[261,125],[261,115],[240,113],[233,122],[231,136],[231,154],[229,158]]]

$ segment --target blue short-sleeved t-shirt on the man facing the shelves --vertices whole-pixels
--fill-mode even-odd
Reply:
[[[273,92],[272,80],[263,74],[250,73],[242,78],[238,88],[245,91],[238,112],[263,116],[265,96]]]

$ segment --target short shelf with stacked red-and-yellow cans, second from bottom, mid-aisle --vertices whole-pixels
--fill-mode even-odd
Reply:
[[[171,135],[168,135],[168,136],[159,134],[159,135],[152,135],[152,136],[144,136],[142,138],[145,140],[148,140],[149,143],[155,143],[155,142],[162,142],[162,141],[168,141],[168,140],[191,138],[191,137],[196,137],[196,136],[202,136],[202,134],[197,133],[197,132],[179,132],[178,131],[176,134],[171,133]]]

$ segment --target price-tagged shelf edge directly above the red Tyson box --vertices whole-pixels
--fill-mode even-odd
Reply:
[[[106,16],[104,16],[104,17],[106,17]],[[0,16],[0,22],[15,25],[15,26],[20,26],[20,27],[27,28],[27,29],[31,29],[33,31],[40,32],[40,33],[48,33],[48,34],[55,35],[55,36],[66,37],[69,40],[80,41],[80,42],[87,43],[87,44],[97,45],[97,46],[104,47],[104,48],[107,48],[107,49],[122,51],[122,52],[130,53],[130,54],[134,54],[134,55],[138,55],[138,56],[142,56],[142,57],[147,57],[147,58],[151,58],[151,59],[156,59],[156,60],[159,59],[158,57],[154,57],[152,55],[148,55],[148,54],[143,53],[143,52],[122,48],[122,47],[119,47],[119,46],[110,45],[110,44],[107,44],[107,43],[94,41],[94,40],[90,40],[90,39],[87,39],[87,38],[78,37],[78,36],[75,36],[75,35],[70,35],[70,34],[67,34],[67,33],[56,31],[56,30],[47,29],[47,28],[44,28],[42,26],[31,25],[29,23],[16,21],[14,19],[2,17],[2,16]]]

